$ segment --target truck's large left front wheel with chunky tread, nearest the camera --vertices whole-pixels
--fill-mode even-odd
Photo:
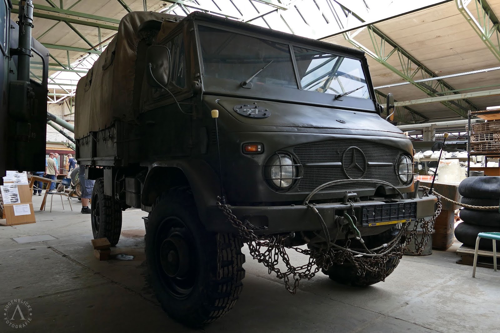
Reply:
[[[242,241],[206,231],[187,188],[170,189],[156,200],[145,239],[150,281],[170,317],[201,327],[233,307],[245,275]]]

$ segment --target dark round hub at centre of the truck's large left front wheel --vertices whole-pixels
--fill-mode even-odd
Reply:
[[[160,261],[163,271],[170,277],[184,278],[189,270],[189,249],[184,239],[172,234],[161,243]]]

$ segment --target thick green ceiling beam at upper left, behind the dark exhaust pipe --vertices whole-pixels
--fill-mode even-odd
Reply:
[[[18,13],[19,1],[12,0],[12,4],[12,13]],[[118,24],[120,22],[119,19],[97,16],[68,9],[54,8],[41,4],[34,4],[33,16],[81,25],[98,26],[109,30],[118,30]]]

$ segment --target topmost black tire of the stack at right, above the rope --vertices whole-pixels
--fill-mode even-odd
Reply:
[[[500,176],[465,178],[458,185],[458,192],[466,197],[500,199]]]

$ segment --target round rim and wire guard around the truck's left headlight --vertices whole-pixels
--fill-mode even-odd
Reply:
[[[289,163],[286,162],[286,159],[289,160]],[[302,165],[297,161],[298,158],[296,158],[296,156],[288,151],[279,150],[274,152],[267,158],[267,162],[263,167],[263,176],[266,180],[267,185],[277,192],[286,192],[295,187],[295,185],[298,183],[298,179],[300,179],[302,175]],[[280,167],[280,176],[272,177],[272,168],[276,166]],[[291,168],[291,175],[282,177],[283,168]],[[275,182],[276,180],[278,181],[278,183]],[[283,186],[283,180],[289,180],[289,184]]]

